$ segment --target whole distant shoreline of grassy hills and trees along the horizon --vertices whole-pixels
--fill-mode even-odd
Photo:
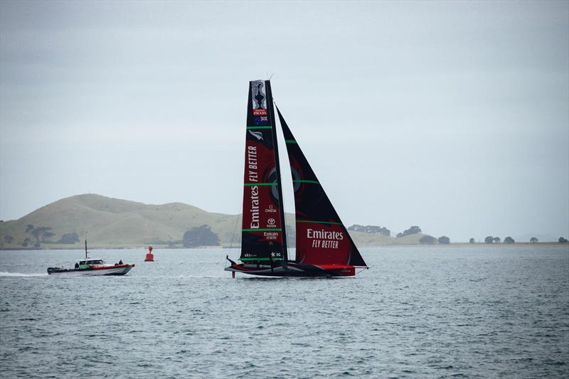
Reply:
[[[184,248],[182,243],[186,233],[204,233],[205,229],[202,228],[206,228],[209,233],[208,238],[201,240],[201,243],[239,248],[240,224],[240,215],[210,213],[184,203],[151,205],[83,194],[44,205],[18,220],[0,220],[0,250],[83,250],[85,240],[91,249],[146,250],[148,245],[154,245],[156,249],[180,249]],[[285,225],[287,238],[294,241],[294,214],[285,214]],[[359,230],[348,230],[348,233],[360,248],[422,246],[420,242],[434,242],[433,246],[447,246],[439,242],[451,242],[449,246],[454,247],[479,246],[486,245],[485,239],[490,237],[472,233],[478,237],[472,238],[477,242],[471,244],[468,239],[460,241],[445,235],[437,238],[423,233],[418,226],[412,226],[393,236],[385,227],[353,225],[350,228]],[[536,235],[538,236],[539,234]],[[541,236],[543,242],[536,242],[536,246],[558,243],[557,237],[551,234]],[[516,246],[530,244],[531,237],[533,235],[519,235]],[[509,237],[503,238],[510,240]],[[499,237],[495,239],[500,240]],[[430,244],[424,246],[427,245]],[[509,244],[499,242],[491,245]]]

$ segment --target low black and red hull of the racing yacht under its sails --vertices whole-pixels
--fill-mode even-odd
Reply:
[[[350,265],[302,265],[300,263],[281,262],[240,263],[225,267],[225,271],[262,277],[353,277],[356,267]]]

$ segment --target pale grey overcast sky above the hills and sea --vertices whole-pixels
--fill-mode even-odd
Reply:
[[[3,220],[80,193],[239,213],[274,73],[347,225],[569,237],[567,1],[1,1],[0,25]]]

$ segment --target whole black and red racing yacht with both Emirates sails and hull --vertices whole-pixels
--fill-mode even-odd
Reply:
[[[275,277],[349,277],[368,268],[280,110],[292,173],[297,255],[289,260],[275,110],[269,80],[249,84],[243,184],[242,263],[226,271]]]

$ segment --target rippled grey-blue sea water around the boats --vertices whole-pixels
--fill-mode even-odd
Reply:
[[[225,250],[154,252],[92,252],[136,263],[124,277],[48,277],[83,253],[1,251],[1,377],[569,375],[566,245],[368,248],[349,279],[231,279]]]

